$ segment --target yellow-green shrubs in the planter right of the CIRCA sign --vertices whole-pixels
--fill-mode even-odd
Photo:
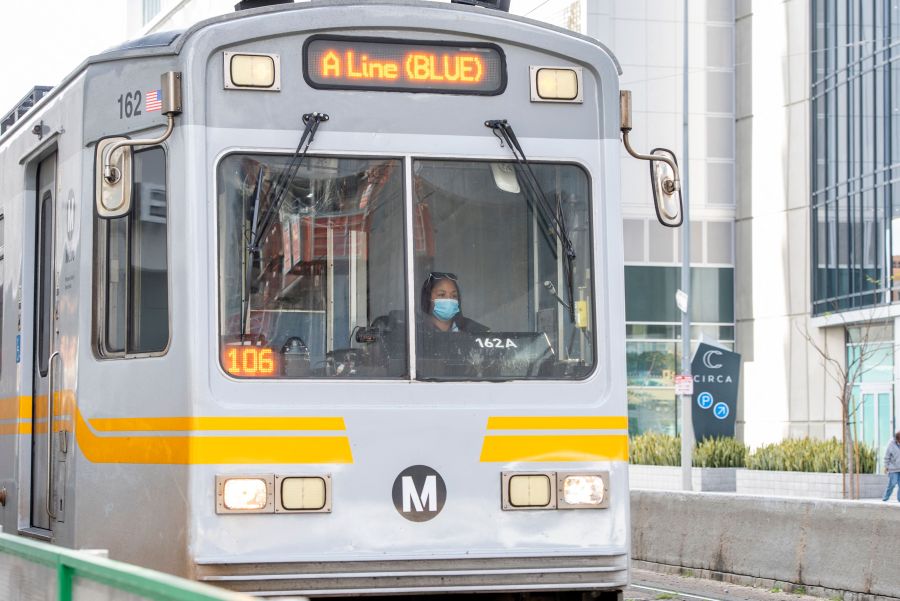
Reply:
[[[843,465],[843,457],[843,445],[836,438],[831,440],[789,438],[756,449],[750,455],[747,467],[753,470],[839,474]],[[874,473],[875,449],[860,444],[859,463],[860,473]]]

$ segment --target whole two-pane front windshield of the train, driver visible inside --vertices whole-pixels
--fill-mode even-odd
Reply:
[[[220,360],[230,375],[409,378],[411,330],[422,380],[591,372],[590,185],[580,167],[532,164],[548,212],[508,162],[414,160],[412,199],[398,159],[307,157],[288,177],[290,162],[234,154],[219,165]],[[548,216],[565,223],[571,269]]]

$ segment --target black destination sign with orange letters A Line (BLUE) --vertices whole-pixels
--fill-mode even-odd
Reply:
[[[303,54],[314,88],[482,95],[506,88],[503,52],[492,44],[317,36]]]

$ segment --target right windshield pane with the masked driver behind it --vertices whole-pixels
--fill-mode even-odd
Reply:
[[[416,161],[421,379],[579,378],[594,362],[588,180],[572,165],[533,164],[561,212],[575,261],[574,321],[560,238],[534,211],[509,163]]]

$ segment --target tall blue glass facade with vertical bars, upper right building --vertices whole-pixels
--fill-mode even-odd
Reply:
[[[813,313],[900,301],[900,5],[813,0]]]

